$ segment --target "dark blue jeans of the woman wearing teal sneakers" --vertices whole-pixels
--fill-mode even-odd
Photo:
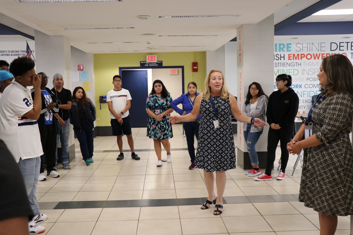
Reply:
[[[81,124],[81,130],[73,128],[80,143],[82,158],[86,161],[93,156],[94,128],[90,124]]]

